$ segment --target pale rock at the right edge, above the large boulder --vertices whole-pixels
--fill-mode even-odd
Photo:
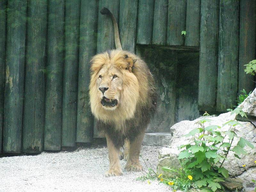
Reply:
[[[242,108],[246,115],[256,116],[256,88],[238,107]]]

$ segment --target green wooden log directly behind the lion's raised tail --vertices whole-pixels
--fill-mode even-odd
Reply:
[[[119,19],[119,0],[99,0],[98,9],[98,35],[97,52],[104,52],[109,49],[115,49],[115,36],[112,20],[107,15],[101,15],[100,10],[107,7]]]

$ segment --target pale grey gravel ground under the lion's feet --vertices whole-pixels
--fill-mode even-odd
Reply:
[[[153,168],[158,162],[160,147],[142,146],[142,156]],[[145,167],[144,162],[140,159]],[[121,161],[124,167],[125,161]],[[157,181],[136,181],[141,172],[124,172],[123,176],[105,178],[108,151],[104,146],[80,148],[73,152],[43,152],[34,156],[0,158],[0,191],[171,191]]]

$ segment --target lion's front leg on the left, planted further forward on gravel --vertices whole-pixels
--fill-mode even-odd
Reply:
[[[109,158],[109,170],[105,172],[105,177],[120,176],[123,175],[120,161],[119,161],[119,149],[116,148],[113,141],[106,134],[108,145],[108,158]]]

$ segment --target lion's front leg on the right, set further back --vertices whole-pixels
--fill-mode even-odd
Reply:
[[[142,166],[139,162],[140,148],[144,137],[144,132],[139,133],[133,141],[130,141],[130,149],[128,153],[127,162],[124,166],[126,171],[141,171]]]

